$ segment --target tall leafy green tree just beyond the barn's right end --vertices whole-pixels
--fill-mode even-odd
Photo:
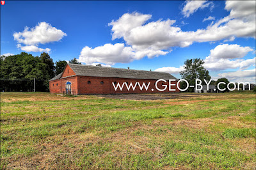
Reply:
[[[187,59],[184,62],[184,68],[185,70],[180,72],[180,75],[182,79],[186,79],[188,81],[189,86],[195,87],[195,81],[196,79],[200,79],[202,81],[202,84],[205,84],[205,81],[209,81],[211,79],[211,76],[209,75],[209,71],[204,68],[204,61],[200,58],[195,59]],[[186,83],[182,82],[180,83],[180,88],[185,89]],[[188,88],[189,92],[193,92],[194,88]]]

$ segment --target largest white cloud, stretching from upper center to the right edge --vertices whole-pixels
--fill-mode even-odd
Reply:
[[[255,3],[247,3],[247,1],[238,1],[237,4],[255,7]],[[237,10],[235,7],[233,9],[230,6],[227,10],[234,13]],[[124,38],[125,42],[135,50],[170,50],[172,47],[188,47],[194,42],[234,40],[235,37],[255,38],[255,8],[254,13],[253,8],[250,10],[252,10],[250,15],[230,14],[216,23],[212,22],[205,29],[196,31],[182,31],[180,27],[173,26],[175,20],[171,19],[147,22],[151,15],[141,13],[125,13],[118,20],[113,20],[109,26],[112,26],[113,40]],[[127,29],[122,27],[123,24]]]

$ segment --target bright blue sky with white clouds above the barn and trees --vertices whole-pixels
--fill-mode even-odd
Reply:
[[[186,59],[201,58],[213,79],[255,82],[255,3],[6,1],[1,55],[22,51],[177,78]]]

